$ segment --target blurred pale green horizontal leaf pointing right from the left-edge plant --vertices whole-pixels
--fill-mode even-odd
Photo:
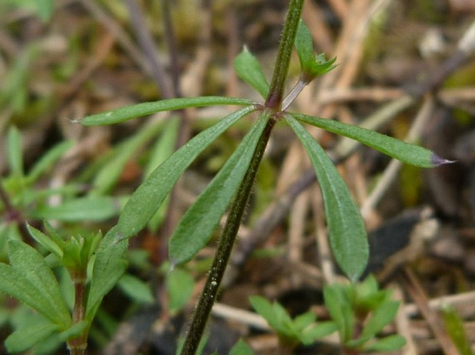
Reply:
[[[119,214],[117,199],[108,196],[80,197],[58,206],[41,206],[31,212],[38,219],[60,221],[103,221]]]

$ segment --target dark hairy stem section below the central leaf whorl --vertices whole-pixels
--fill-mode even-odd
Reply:
[[[259,119],[266,119],[266,116],[261,116]],[[195,354],[200,339],[205,331],[209,313],[211,313],[211,308],[216,299],[221,280],[223,280],[227,263],[230,260],[232,246],[234,245],[234,240],[236,239],[241,219],[248,203],[257,168],[259,167],[259,163],[261,163],[261,158],[264,155],[270,137],[270,131],[272,131],[275,122],[277,122],[277,120],[273,117],[268,120],[267,125],[257,142],[248,171],[245,173],[241,186],[239,187],[238,192],[236,192],[236,197],[234,197],[234,201],[230,207],[230,212],[227,216],[223,233],[221,233],[219,239],[216,255],[214,255],[213,264],[211,265],[205,287],[200,295],[200,299],[198,300],[196,311],[193,314],[187,338],[184,341],[181,352],[182,355]]]

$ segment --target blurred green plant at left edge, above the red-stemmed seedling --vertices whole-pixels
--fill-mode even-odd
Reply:
[[[26,220],[101,221],[118,214],[118,203],[114,197],[81,196],[84,191],[83,183],[71,182],[61,187],[37,188],[40,181],[49,176],[59,159],[74,145],[74,141],[65,140],[51,147],[28,172],[24,170],[21,136],[15,126],[8,130],[6,143],[9,173],[0,179],[0,213],[6,216],[0,222],[0,253],[3,255],[6,253],[7,239],[21,239],[19,229],[23,228]],[[61,197],[62,203],[50,206],[49,198],[53,196]]]

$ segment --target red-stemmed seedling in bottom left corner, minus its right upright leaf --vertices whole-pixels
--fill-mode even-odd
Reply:
[[[51,253],[47,260],[24,242],[8,241],[10,264],[0,264],[0,290],[27,304],[37,314],[33,322],[10,334],[5,345],[8,352],[21,352],[46,338],[55,338],[57,343],[66,342],[71,354],[83,354],[92,323],[92,317],[86,316],[87,267],[102,236],[97,233],[62,239],[51,226],[46,229],[49,236],[28,226],[31,236]],[[74,285],[72,314],[49,264],[64,266],[69,272]],[[125,268],[123,264],[116,273],[122,275]]]

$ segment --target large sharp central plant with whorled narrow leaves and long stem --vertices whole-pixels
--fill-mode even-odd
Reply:
[[[184,214],[169,240],[171,263],[176,265],[189,261],[209,242],[219,220],[228,210],[227,221],[221,233],[214,262],[198,302],[182,354],[195,352],[198,339],[205,328],[241,222],[252,182],[275,122],[286,121],[309,154],[325,203],[331,250],[338,266],[352,282],[358,280],[365,270],[368,260],[365,226],[359,209],[334,164],[324,149],[306,131],[302,123],[358,140],[411,165],[435,167],[447,163],[423,147],[404,143],[375,131],[287,111],[291,102],[304,86],[318,75],[333,69],[335,63],[335,59],[325,60],[324,55],[315,55],[311,35],[300,20],[302,2],[302,0],[293,0],[290,3],[270,84],[262,73],[259,62],[246,49],[236,57],[234,62],[239,77],[256,89],[263,96],[264,102],[212,96],[176,98],[137,104],[80,120],[83,125],[109,125],[157,111],[216,104],[242,106],[241,109],[193,137],[150,174],[126,204],[116,228],[105,237],[103,245],[106,250],[107,241],[109,243],[123,241],[137,234],[146,226],[148,219],[153,216],[184,170],[213,140],[236,121],[249,116],[250,113],[258,113],[253,127],[196,202]],[[294,89],[284,97],[286,75],[294,42],[300,60],[301,75]],[[125,248],[125,246],[123,247]]]

